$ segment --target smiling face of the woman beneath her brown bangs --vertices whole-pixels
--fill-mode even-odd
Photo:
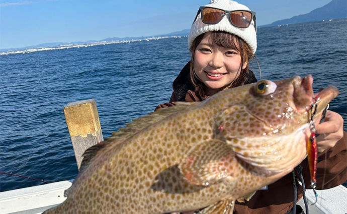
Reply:
[[[210,36],[211,32],[204,35],[195,50],[193,62],[194,71],[206,86],[208,96],[227,87],[240,75],[241,70],[240,52],[213,44]]]

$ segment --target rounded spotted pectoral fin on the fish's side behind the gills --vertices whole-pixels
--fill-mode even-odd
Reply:
[[[196,185],[209,185],[233,174],[235,154],[221,140],[207,140],[192,147],[179,165],[185,178]]]

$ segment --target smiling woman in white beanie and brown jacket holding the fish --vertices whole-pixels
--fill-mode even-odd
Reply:
[[[225,13],[226,12],[226,13]],[[227,88],[256,82],[248,62],[256,51],[255,13],[229,0],[215,0],[200,7],[188,38],[192,60],[173,82],[169,103],[199,102]],[[318,164],[317,189],[331,188],[346,181],[346,133],[342,117],[326,112],[325,120],[316,126]],[[305,183],[310,183],[307,159],[301,165]],[[297,183],[298,199],[302,188]],[[249,201],[236,202],[235,213],[293,213],[293,176],[288,174],[258,190]],[[303,213],[300,207],[296,213]],[[187,212],[187,213],[194,213]]]

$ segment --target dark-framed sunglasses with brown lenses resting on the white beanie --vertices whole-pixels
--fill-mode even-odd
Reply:
[[[252,20],[254,21],[254,29],[256,31],[255,25],[255,12],[253,11],[225,11],[218,8],[211,7],[200,7],[194,22],[197,20],[198,15],[201,13],[201,20],[205,24],[217,24],[219,23],[225,14],[229,14],[230,22],[233,26],[237,28],[248,28]],[[194,23],[193,22],[193,23]]]

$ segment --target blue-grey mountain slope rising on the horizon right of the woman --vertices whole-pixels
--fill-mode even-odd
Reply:
[[[317,8],[308,14],[295,16],[290,19],[279,20],[271,23],[270,25],[259,26],[259,28],[344,18],[347,18],[347,1],[332,0],[327,5]]]

